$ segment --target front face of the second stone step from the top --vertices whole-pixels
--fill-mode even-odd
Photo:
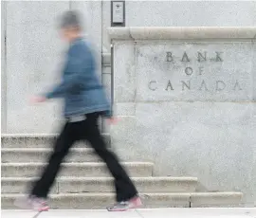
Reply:
[[[2,152],[2,163],[42,163],[50,155],[50,152]],[[88,152],[71,152],[64,160],[67,162],[99,162],[101,158],[96,154]]]

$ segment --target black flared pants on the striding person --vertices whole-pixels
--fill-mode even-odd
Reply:
[[[41,178],[33,185],[31,195],[47,197],[55,177],[61,169],[65,155],[68,154],[74,142],[81,139],[90,142],[114,176],[117,201],[125,201],[137,195],[137,190],[128,174],[119,164],[118,157],[107,149],[103,141],[98,127],[99,116],[98,113],[88,114],[85,120],[65,123],[64,129],[55,143],[54,151],[49,157],[46,169]]]

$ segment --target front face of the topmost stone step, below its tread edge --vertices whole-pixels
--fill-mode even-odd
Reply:
[[[110,136],[103,135],[104,141],[110,147]],[[51,148],[54,144],[56,137],[53,136],[8,136],[1,137],[2,148]],[[76,142],[73,147],[86,148],[90,147],[88,142]]]

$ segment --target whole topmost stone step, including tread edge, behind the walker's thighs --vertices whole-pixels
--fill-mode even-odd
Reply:
[[[2,148],[49,148],[52,147],[56,134],[34,135],[34,134],[2,134]],[[102,134],[108,147],[110,147],[110,136]],[[90,145],[85,142],[77,142],[73,147],[85,148]]]

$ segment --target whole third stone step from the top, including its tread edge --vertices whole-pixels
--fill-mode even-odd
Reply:
[[[41,173],[45,163],[2,163],[2,177],[34,177]],[[109,176],[104,163],[64,163],[61,176]],[[123,163],[128,173],[134,177],[152,176],[153,163],[127,162]]]

